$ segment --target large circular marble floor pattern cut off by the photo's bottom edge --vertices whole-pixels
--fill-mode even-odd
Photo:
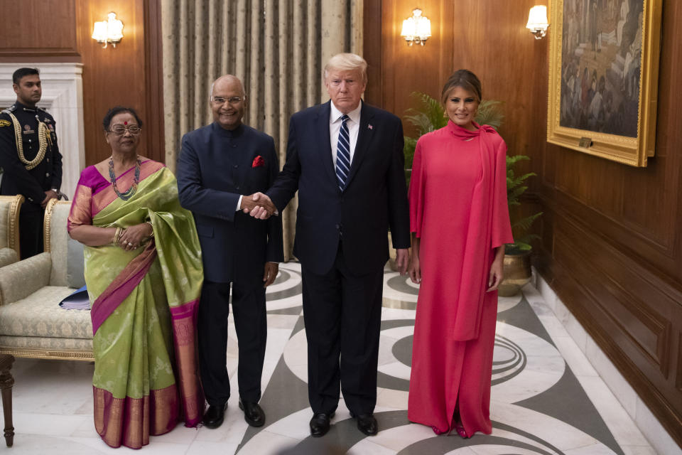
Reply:
[[[252,437],[240,453],[308,455],[310,446],[325,442],[335,454],[443,454],[443,455],[567,455],[572,453],[615,455],[597,439],[559,419],[525,407],[492,402],[492,434],[477,433],[470,439],[458,435],[436,436],[430,427],[408,423],[406,411],[377,407],[379,433],[362,437],[354,429],[345,403],[340,401],[332,429],[325,439],[311,440],[308,430],[310,408],[272,422]],[[347,432],[347,434],[346,434]],[[293,447],[282,452],[285,440]],[[319,446],[319,444],[317,444]]]

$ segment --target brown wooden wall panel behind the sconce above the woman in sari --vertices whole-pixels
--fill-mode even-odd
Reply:
[[[121,105],[134,107],[144,123],[153,121],[146,107],[144,4],[138,0],[77,0],[79,49],[83,67],[83,109],[85,118],[85,161],[87,165],[111,155],[104,141],[102,118],[107,109]],[[94,41],[92,24],[114,11],[123,21],[124,38],[116,48],[106,49]],[[142,141],[139,153],[149,153]]]

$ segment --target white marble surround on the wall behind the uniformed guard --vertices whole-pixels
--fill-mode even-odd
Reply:
[[[57,140],[63,155],[61,191],[73,196],[80,171],[85,167],[83,134],[82,63],[0,63],[0,106],[16,101],[12,73],[17,68],[40,70],[43,98],[38,106],[46,109],[57,124]]]

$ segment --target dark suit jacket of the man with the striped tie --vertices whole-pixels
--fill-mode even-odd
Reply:
[[[410,246],[403,127],[395,115],[362,103],[350,175],[341,191],[329,115],[330,102],[293,114],[286,164],[267,194],[281,213],[298,189],[294,254],[313,273],[331,269],[340,240],[352,270],[376,272],[389,257],[389,226],[394,247]]]

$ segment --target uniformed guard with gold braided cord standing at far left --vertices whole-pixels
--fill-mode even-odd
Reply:
[[[43,95],[36,68],[12,75],[16,102],[0,113],[0,194],[23,195],[19,213],[21,259],[43,252],[43,214],[50,199],[59,198],[62,155],[55,120],[37,107]]]

